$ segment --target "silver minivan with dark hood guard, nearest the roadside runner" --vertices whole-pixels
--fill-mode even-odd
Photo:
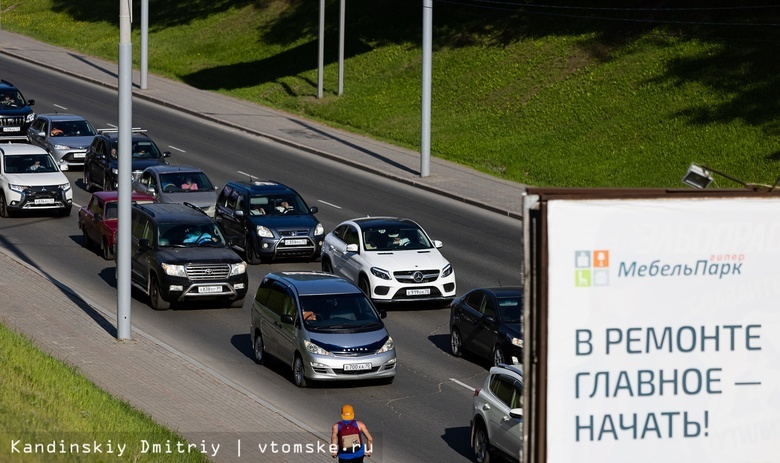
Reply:
[[[293,381],[395,378],[393,338],[371,300],[351,282],[324,272],[269,273],[252,303],[255,360],[288,363]]]

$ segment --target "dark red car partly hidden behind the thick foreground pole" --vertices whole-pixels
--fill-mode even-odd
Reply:
[[[99,246],[103,259],[114,258],[114,242],[117,228],[117,191],[96,191],[89,204],[79,210],[79,228],[83,235],[82,245],[87,248]],[[153,203],[154,198],[143,193],[133,193],[132,201],[139,204]]]

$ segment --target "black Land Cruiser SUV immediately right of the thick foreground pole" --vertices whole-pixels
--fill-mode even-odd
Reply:
[[[246,263],[200,209],[134,204],[131,226],[131,282],[149,295],[153,309],[196,299],[244,305]]]

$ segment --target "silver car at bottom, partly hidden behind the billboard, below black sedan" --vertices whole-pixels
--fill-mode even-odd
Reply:
[[[471,447],[477,463],[489,463],[495,452],[511,461],[522,460],[522,367],[503,364],[492,367],[482,387],[474,390]]]

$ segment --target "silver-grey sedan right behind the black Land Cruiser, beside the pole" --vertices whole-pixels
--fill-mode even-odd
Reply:
[[[158,203],[189,203],[214,217],[217,186],[192,166],[149,166],[133,180],[132,190],[153,196]]]

